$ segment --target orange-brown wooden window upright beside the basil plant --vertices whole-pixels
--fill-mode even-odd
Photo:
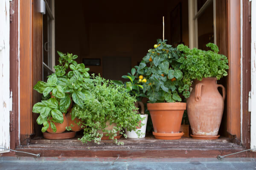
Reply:
[[[41,96],[33,86],[42,80],[42,14],[40,0],[20,1],[20,144],[30,142],[34,103]]]

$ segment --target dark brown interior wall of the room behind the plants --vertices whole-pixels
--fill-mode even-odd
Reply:
[[[154,48],[157,39],[162,39],[163,16],[165,39],[175,34],[169,31],[169,16],[180,2],[182,42],[185,45],[189,43],[187,0],[164,0],[163,3],[141,0],[126,4],[117,0],[100,4],[82,0],[76,2],[55,1],[55,47],[57,51],[77,54],[78,62],[82,62],[83,58],[101,59],[100,66],[87,66],[96,74],[104,76],[103,57],[131,57],[131,67],[137,65],[148,49]]]

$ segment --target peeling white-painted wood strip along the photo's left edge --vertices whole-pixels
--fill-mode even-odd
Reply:
[[[10,147],[10,3],[0,0],[0,147]],[[0,153],[9,150],[0,149]]]

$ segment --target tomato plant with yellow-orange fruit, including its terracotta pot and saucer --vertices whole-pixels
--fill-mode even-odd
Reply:
[[[183,78],[178,59],[180,51],[172,45],[157,40],[154,49],[148,50],[137,68],[137,77],[142,76],[143,92],[149,99],[150,112],[157,139],[180,139],[180,125],[189,97],[189,82]]]

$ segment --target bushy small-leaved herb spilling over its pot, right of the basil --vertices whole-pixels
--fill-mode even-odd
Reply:
[[[123,86],[99,76],[93,75],[91,84],[93,88],[89,89],[90,97],[84,101],[84,108],[76,104],[72,111],[72,117],[82,119],[86,126],[79,140],[99,143],[101,139],[112,139],[116,144],[123,144],[117,141],[124,134],[123,128],[136,130],[141,120],[134,106],[135,97]]]

